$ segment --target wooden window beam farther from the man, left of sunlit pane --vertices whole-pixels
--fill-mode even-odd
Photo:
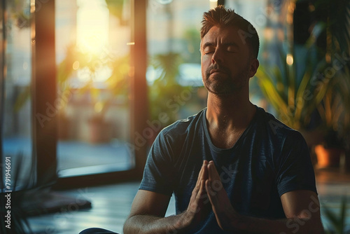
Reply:
[[[55,0],[31,0],[31,14],[34,153],[37,183],[44,185],[57,177]]]

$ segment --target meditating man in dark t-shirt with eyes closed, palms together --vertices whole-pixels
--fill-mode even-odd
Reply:
[[[249,101],[258,48],[234,11],[204,13],[207,109],[155,139],[124,233],[323,233],[304,139]]]

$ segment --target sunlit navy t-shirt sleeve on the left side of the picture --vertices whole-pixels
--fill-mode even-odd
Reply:
[[[172,195],[174,191],[174,159],[165,131],[155,139],[146,160],[144,177],[139,189]]]

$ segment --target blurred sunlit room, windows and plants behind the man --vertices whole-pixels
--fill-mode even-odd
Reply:
[[[59,229],[61,219],[38,214],[64,216],[78,188],[102,184],[117,194],[106,207],[112,198],[128,204],[123,225],[158,132],[207,105],[200,27],[218,4],[257,29],[251,102],[302,132],[328,204],[323,222],[349,231],[340,198],[350,181],[350,1],[2,0],[1,162],[10,158],[11,188],[21,194],[16,219],[31,216],[25,232],[50,233],[47,223],[51,233],[84,228]],[[2,192],[4,174],[1,167]],[[85,194],[75,210],[98,216],[92,204],[104,199]]]

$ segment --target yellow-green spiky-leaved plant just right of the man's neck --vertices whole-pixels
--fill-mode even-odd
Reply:
[[[318,69],[311,62],[297,76],[295,64],[288,64],[287,56],[280,48],[280,65],[260,64],[255,77],[278,118],[290,128],[302,131],[308,128],[310,116],[321,103],[328,82],[314,85],[312,80]]]

